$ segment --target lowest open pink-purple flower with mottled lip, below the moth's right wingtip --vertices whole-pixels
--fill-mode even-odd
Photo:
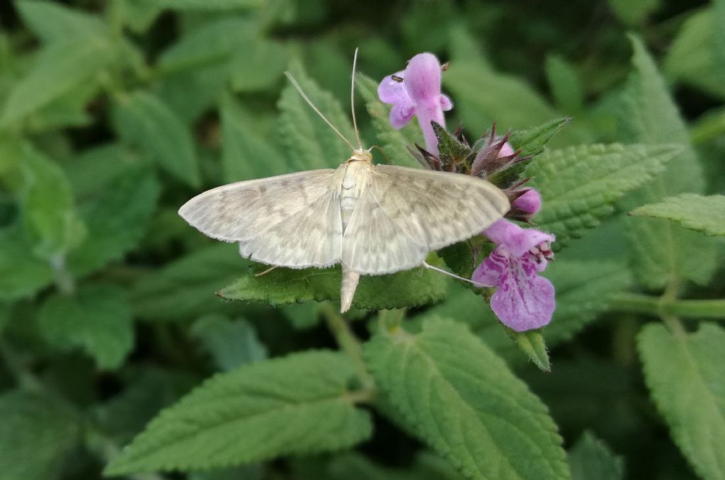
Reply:
[[[471,278],[484,286],[498,287],[491,298],[496,316],[515,331],[547,325],[556,306],[554,286],[537,273],[553,260],[549,244],[555,237],[508,220],[497,221],[484,235],[497,247]]]

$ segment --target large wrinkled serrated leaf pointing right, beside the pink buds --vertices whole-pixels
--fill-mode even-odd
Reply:
[[[565,247],[614,211],[613,203],[663,170],[679,146],[595,144],[547,150],[526,173],[542,194],[537,225]]]

